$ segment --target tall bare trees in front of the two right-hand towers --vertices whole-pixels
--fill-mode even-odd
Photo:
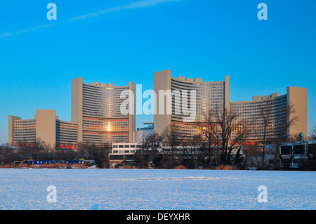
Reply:
[[[289,127],[298,122],[291,104],[283,110],[275,110],[273,104],[263,104],[257,116],[251,119],[244,119],[229,108],[215,108],[203,115],[203,121],[195,124],[195,129],[199,130],[197,135],[185,134],[179,125],[171,122],[161,135],[146,136],[142,149],[136,153],[140,166],[290,169],[295,154],[284,155],[280,147],[304,143],[300,136],[288,134]],[[310,140],[316,140],[315,135],[314,129]],[[255,141],[249,144],[251,138]],[[310,145],[300,169],[316,170],[315,154],[315,144]],[[272,164],[266,157],[272,158]]]

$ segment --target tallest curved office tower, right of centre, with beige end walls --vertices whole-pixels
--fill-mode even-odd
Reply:
[[[197,123],[204,121],[204,113],[230,107],[229,76],[225,81],[204,82],[201,78],[173,78],[171,70],[154,72],[154,92],[154,131],[159,134],[169,124],[176,124],[183,136],[195,136],[200,133]]]

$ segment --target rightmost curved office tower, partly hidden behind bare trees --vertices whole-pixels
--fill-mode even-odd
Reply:
[[[289,105],[293,107],[290,114],[287,112]],[[238,112],[240,117],[253,127],[248,137],[249,141],[256,142],[263,138],[273,140],[279,138],[279,135],[282,138],[289,138],[298,136],[301,132],[305,138],[307,136],[307,88],[289,86],[285,95],[256,95],[251,101],[231,102],[230,108]],[[298,118],[295,124],[284,126],[284,123],[293,117]],[[282,129],[282,126],[286,129]]]

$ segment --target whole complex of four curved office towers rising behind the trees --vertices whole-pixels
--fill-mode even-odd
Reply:
[[[262,111],[269,112],[265,138],[277,138],[280,124],[293,117],[298,120],[288,127],[284,137],[307,136],[307,89],[289,86],[287,94],[254,96],[253,100],[230,102],[230,77],[224,81],[203,81],[171,77],[171,70],[154,72],[153,129],[136,132],[136,85],[86,84],[81,77],[72,79],[72,121],[61,121],[55,110],[37,110],[34,119],[8,117],[8,143],[32,144],[38,138],[56,148],[76,147],[77,143],[140,143],[148,133],[162,134],[174,124],[187,139],[201,133],[200,124],[209,110],[235,111],[240,119],[251,123],[254,131],[248,141],[263,138]],[[123,105],[123,110],[122,110]],[[293,112],[287,117],[287,110]],[[284,119],[284,117],[286,119]],[[145,133],[145,132],[148,133]],[[234,138],[234,133],[232,135]]]

